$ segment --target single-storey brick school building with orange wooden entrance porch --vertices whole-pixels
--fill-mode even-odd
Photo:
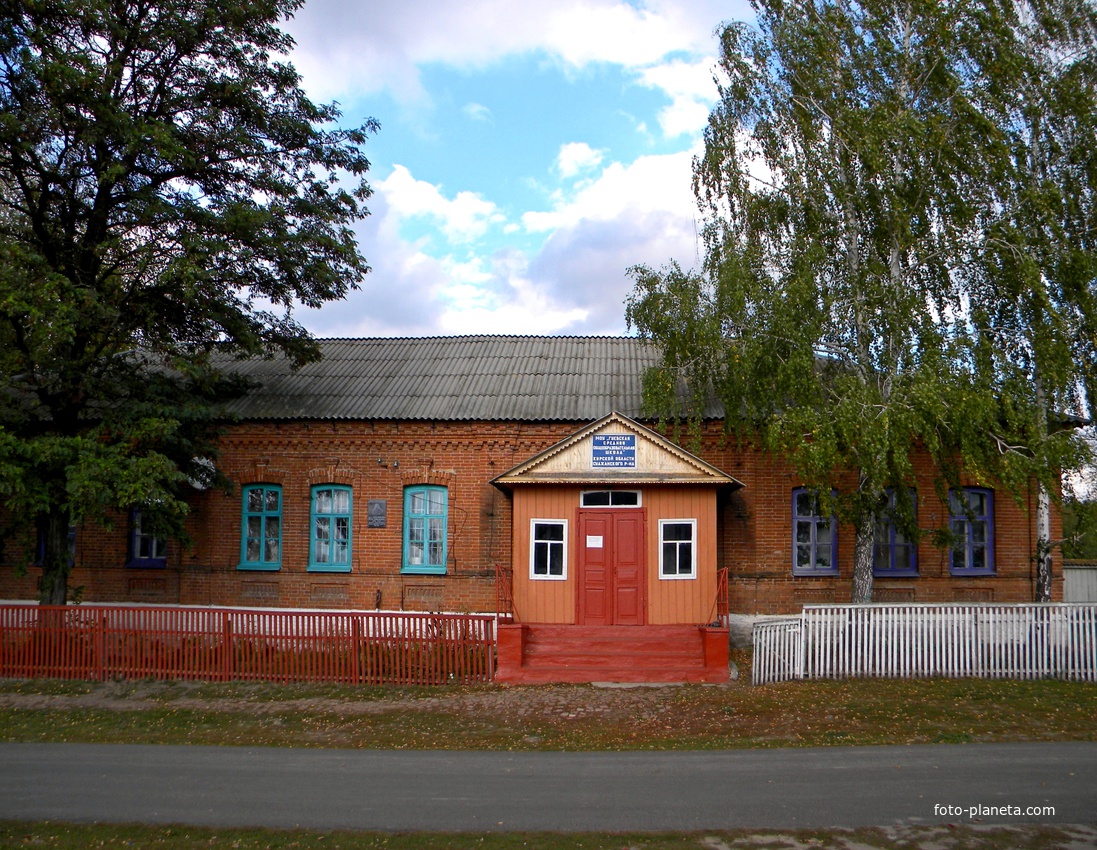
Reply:
[[[240,364],[258,385],[227,410],[218,458],[236,489],[194,491],[190,548],[143,534],[139,512],[111,530],[76,530],[70,583],[84,601],[494,611],[502,575],[519,621],[579,622],[595,604],[583,596],[595,593],[580,583],[595,573],[586,559],[612,533],[586,525],[598,509],[643,518],[630,592],[646,605],[644,622],[708,622],[717,570],[733,613],[849,599],[852,529],[817,515],[790,466],[726,440],[716,409],[682,444],[636,421],[655,362],[637,340],[323,348],[323,362],[297,372],[278,360]],[[918,468],[919,526],[951,523],[961,543],[939,548],[924,535],[915,546],[881,529],[874,598],[1030,601],[1034,494],[1018,503],[972,481],[950,505]],[[20,577],[12,566],[0,569],[0,598],[34,598],[36,570]],[[1061,599],[1058,555],[1054,576]],[[683,592],[697,598],[675,609],[668,600]],[[531,593],[555,594],[557,607],[539,608]]]

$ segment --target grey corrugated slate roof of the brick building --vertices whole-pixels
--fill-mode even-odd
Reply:
[[[244,419],[587,421],[638,417],[658,350],[630,337],[319,340],[324,360],[234,363],[258,386],[227,407]]]

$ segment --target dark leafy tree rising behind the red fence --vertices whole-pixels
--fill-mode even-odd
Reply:
[[[70,524],[182,533],[217,478],[218,358],[317,358],[294,308],[369,270],[375,123],[301,89],[299,5],[0,0],[0,498],[38,531],[43,603]]]

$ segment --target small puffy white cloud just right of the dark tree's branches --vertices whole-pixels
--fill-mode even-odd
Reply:
[[[404,166],[396,166],[384,180],[374,182],[375,193],[384,196],[392,213],[402,218],[433,219],[448,239],[467,242],[504,222],[504,215],[490,201],[473,192],[445,197],[433,183],[416,180]]]

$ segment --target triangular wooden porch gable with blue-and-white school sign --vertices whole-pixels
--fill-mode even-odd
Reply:
[[[493,484],[742,486],[715,466],[617,412],[520,463]]]

